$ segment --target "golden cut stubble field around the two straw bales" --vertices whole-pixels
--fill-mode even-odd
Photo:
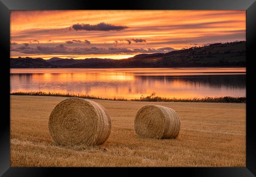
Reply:
[[[11,166],[242,166],[245,167],[245,103],[156,102],[174,109],[176,139],[140,138],[136,112],[149,102],[93,100],[108,111],[108,140],[91,149],[57,146],[48,118],[63,97],[11,97]]]

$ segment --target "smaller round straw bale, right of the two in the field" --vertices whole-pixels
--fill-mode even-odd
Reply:
[[[134,129],[137,135],[145,138],[176,138],[180,131],[180,119],[171,108],[146,105],[137,112]]]

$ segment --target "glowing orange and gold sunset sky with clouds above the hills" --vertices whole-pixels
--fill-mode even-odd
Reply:
[[[11,57],[123,59],[246,40],[246,11],[11,11]]]

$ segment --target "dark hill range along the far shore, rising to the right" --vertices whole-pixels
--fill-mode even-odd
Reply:
[[[135,68],[246,66],[246,42],[215,43],[168,53],[139,54],[127,59],[10,59],[11,68]]]

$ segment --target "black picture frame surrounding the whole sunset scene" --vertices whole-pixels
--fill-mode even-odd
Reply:
[[[253,91],[255,89],[254,65],[256,59],[256,2],[255,0],[130,0],[128,2],[110,2],[93,0],[0,0],[0,46],[2,57],[1,78],[4,81],[2,87],[2,105],[6,109],[1,111],[0,123],[0,175],[2,176],[52,176],[74,175],[75,173],[89,174],[97,171],[113,172],[114,168],[16,168],[10,167],[10,82],[9,82],[9,57],[10,46],[10,10],[66,10],[66,9],[140,9],[140,10],[246,10],[246,50],[247,50],[247,74],[246,74],[246,167],[245,168],[146,168],[152,173],[161,170],[170,170],[178,175],[189,174],[193,176],[254,176],[256,175],[256,134],[253,116]],[[4,99],[4,100],[3,100]],[[9,107],[10,108],[10,107]],[[6,114],[4,114],[6,113]],[[119,168],[120,169],[120,168]],[[132,175],[138,168],[121,168]],[[110,173],[108,173],[110,175]]]

